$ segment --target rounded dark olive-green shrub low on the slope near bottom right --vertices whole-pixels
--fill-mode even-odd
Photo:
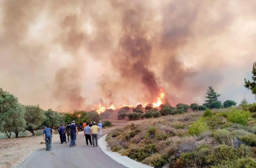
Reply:
[[[237,159],[236,154],[237,151],[233,147],[219,145],[210,152],[206,161],[211,165],[227,164]]]

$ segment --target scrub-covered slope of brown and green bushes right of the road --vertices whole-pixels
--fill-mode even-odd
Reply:
[[[133,121],[106,141],[113,152],[156,168],[255,168],[256,115],[249,107],[256,104]]]

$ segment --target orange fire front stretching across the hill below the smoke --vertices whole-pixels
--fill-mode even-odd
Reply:
[[[164,88],[161,88],[161,87],[158,87],[158,91],[159,91],[159,95],[157,97],[157,102],[156,103],[152,103],[153,107],[159,107],[164,98],[165,98],[165,93],[164,93]],[[137,103],[137,105],[139,105],[140,103]],[[113,101],[110,101],[110,104],[109,105],[105,105],[102,98],[100,99],[100,104],[98,105],[95,105],[95,107],[92,107],[92,110],[96,110],[99,114],[100,113],[103,113],[105,112],[106,110],[108,109],[113,109],[113,110],[118,110],[122,107],[136,107],[137,105],[133,105],[133,104],[130,104],[129,102],[126,104],[120,104],[119,106],[114,106],[114,103]],[[148,105],[148,102],[145,102],[144,105],[142,104],[142,107],[145,107],[146,105]]]

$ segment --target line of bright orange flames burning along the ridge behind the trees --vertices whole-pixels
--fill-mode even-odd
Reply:
[[[164,88],[160,88],[160,87],[159,87],[158,89],[159,89],[159,97],[157,97],[157,103],[153,103],[153,107],[159,107],[159,106],[162,104],[162,100],[163,100],[163,98],[164,98],[164,96],[165,96],[165,94],[164,94]],[[129,102],[128,102],[128,103],[129,103]],[[140,104],[140,103],[137,103],[137,105],[139,105],[139,104]],[[148,102],[146,102],[144,106],[142,105],[142,107],[145,107],[147,104],[148,104]],[[105,112],[105,110],[107,110],[107,109],[118,110],[118,109],[120,109],[120,108],[122,108],[122,107],[125,107],[125,106],[130,107],[130,108],[136,107],[136,106],[134,106],[134,105],[131,105],[130,103],[129,103],[129,104],[124,103],[123,105],[114,107],[114,104],[113,104],[113,102],[111,101],[111,104],[110,104],[109,107],[105,107],[105,106],[103,106],[102,104],[99,104],[98,107],[96,106],[96,111],[100,114],[100,113]],[[95,108],[92,108],[92,110],[95,110]]]

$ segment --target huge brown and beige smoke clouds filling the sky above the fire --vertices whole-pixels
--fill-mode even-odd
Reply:
[[[209,85],[239,102],[255,61],[253,4],[2,0],[0,87],[45,109],[156,102],[158,87],[172,104],[202,104]]]

